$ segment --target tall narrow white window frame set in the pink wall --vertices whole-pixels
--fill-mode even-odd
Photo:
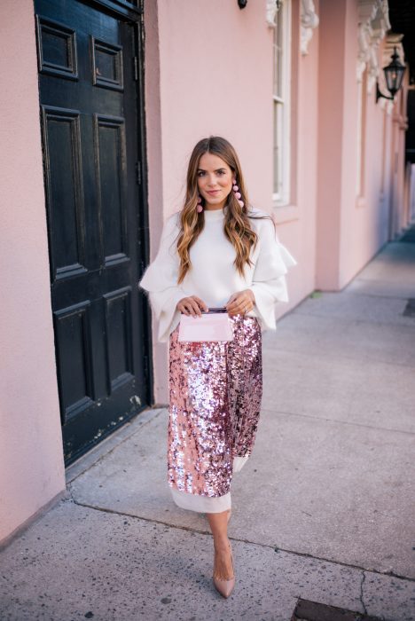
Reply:
[[[275,89],[275,72],[277,69],[277,67],[275,67],[275,37],[278,33],[278,19],[282,20],[283,39],[280,45],[282,50],[281,93],[277,93]],[[274,207],[278,207],[289,204],[291,194],[291,0],[284,0],[284,3],[276,13],[275,24],[274,41],[272,43],[272,63],[274,72],[272,83],[272,200]],[[276,187],[276,183],[278,183],[278,187]]]

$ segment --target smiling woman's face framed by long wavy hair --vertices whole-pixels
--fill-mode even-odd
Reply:
[[[205,208],[223,208],[232,189],[233,174],[228,164],[214,153],[203,153],[197,174],[199,193],[205,199]]]

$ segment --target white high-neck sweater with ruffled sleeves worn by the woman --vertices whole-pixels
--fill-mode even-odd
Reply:
[[[253,216],[268,216],[256,208]],[[254,292],[254,309],[248,317],[257,317],[262,330],[276,328],[275,303],[288,302],[286,291],[287,268],[296,262],[278,241],[270,219],[251,219],[258,234],[258,243],[251,249],[252,266],[246,264],[245,277],[233,264],[236,253],[223,232],[223,209],[206,210],[205,226],[192,245],[189,255],[192,269],[177,285],[179,257],[176,237],[180,231],[180,214],[168,217],[161,235],[159,252],[147,267],[139,286],[149,292],[150,303],[159,320],[159,341],[168,341],[180,321],[176,304],[183,297],[198,295],[207,306],[224,306],[230,296],[243,289]]]

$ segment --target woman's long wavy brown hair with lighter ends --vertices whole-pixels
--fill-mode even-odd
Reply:
[[[233,178],[239,185],[239,193],[244,202],[244,207],[240,207],[235,194],[229,193],[225,207],[225,219],[223,224],[223,232],[228,240],[231,241],[236,251],[234,265],[239,274],[244,275],[246,265],[251,265],[250,259],[251,248],[255,248],[257,244],[257,234],[254,232],[249,219],[250,218],[268,218],[270,216],[248,216],[248,197],[247,188],[240,168],[238,155],[225,138],[220,136],[211,136],[203,138],[195,145],[190,157],[187,169],[187,186],[184,207],[180,212],[181,230],[177,236],[177,253],[180,258],[180,266],[177,284],[183,282],[185,275],[192,267],[189,251],[194,242],[198,239],[200,233],[205,226],[204,209],[199,213],[197,210],[199,188],[198,188],[198,169],[200,157],[204,153],[213,153],[225,161],[232,171]],[[202,206],[205,200],[202,198]],[[272,220],[272,218],[270,218]],[[274,223],[275,224],[275,223]]]

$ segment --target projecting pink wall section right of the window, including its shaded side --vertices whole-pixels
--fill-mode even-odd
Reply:
[[[398,138],[393,115],[376,103],[376,85],[363,95],[364,191],[356,195],[357,27],[355,1],[320,0],[316,287],[324,290],[345,287],[388,241],[390,204],[394,211],[400,204],[389,156]],[[403,161],[402,143],[398,150]]]

